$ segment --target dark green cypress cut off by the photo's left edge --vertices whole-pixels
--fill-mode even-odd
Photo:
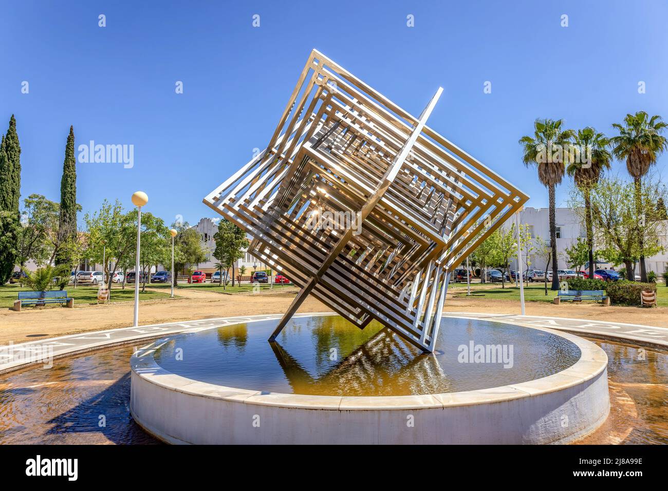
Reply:
[[[11,115],[9,129],[0,143],[0,284],[11,276],[16,260],[20,231],[21,145],[16,119]]]

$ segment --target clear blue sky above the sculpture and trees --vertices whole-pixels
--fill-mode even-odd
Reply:
[[[531,206],[546,206],[547,193],[517,141],[536,117],[609,134],[628,112],[668,119],[663,1],[147,4],[3,1],[0,131],[14,113],[22,197],[59,200],[74,125],[77,146],[134,145],[131,169],[77,164],[84,211],[104,198],[130,206],[142,189],[146,211],[167,223],[212,216],[202,197],[266,146],[314,47],[415,115],[442,85],[430,126],[529,193]]]

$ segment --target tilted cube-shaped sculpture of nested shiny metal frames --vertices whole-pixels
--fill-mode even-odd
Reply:
[[[267,148],[204,198],[248,252],[365,328],[432,352],[450,271],[528,196],[313,50]],[[341,219],[341,217],[345,219]]]

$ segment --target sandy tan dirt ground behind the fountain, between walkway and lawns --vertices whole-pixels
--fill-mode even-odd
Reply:
[[[225,295],[180,288],[183,298],[144,300],[140,303],[140,325],[179,322],[215,317],[279,314],[285,312],[297,294],[297,288],[267,291],[259,294]],[[327,312],[324,304],[309,297],[298,312]],[[520,314],[520,305],[513,300],[484,298],[448,298],[444,308],[450,312],[488,312]],[[667,308],[603,307],[599,304],[553,305],[526,302],[529,316],[570,317],[610,322],[628,322],[647,326],[668,327]],[[110,305],[79,306],[73,309],[51,306],[27,308],[21,312],[0,310],[0,344],[53,338],[65,334],[126,328],[132,325],[133,302]]]

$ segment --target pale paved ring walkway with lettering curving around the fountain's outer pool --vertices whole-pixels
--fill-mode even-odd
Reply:
[[[331,312],[296,314],[295,317],[334,315]],[[591,322],[582,319],[565,319],[541,316],[507,316],[502,314],[482,314],[480,312],[444,312],[444,317],[489,319],[495,322],[513,324],[522,322],[535,326],[563,330],[593,338],[605,338],[668,350],[668,328],[622,324],[619,322]],[[128,344],[140,340],[160,338],[168,334],[200,332],[220,326],[229,326],[241,322],[279,319],[282,314],[262,316],[239,316],[213,318],[186,322],[171,322],[122,328],[105,331],[71,334],[58,338],[47,338],[21,344],[0,346],[0,374],[28,364],[49,364],[53,358],[67,356],[90,350]]]

